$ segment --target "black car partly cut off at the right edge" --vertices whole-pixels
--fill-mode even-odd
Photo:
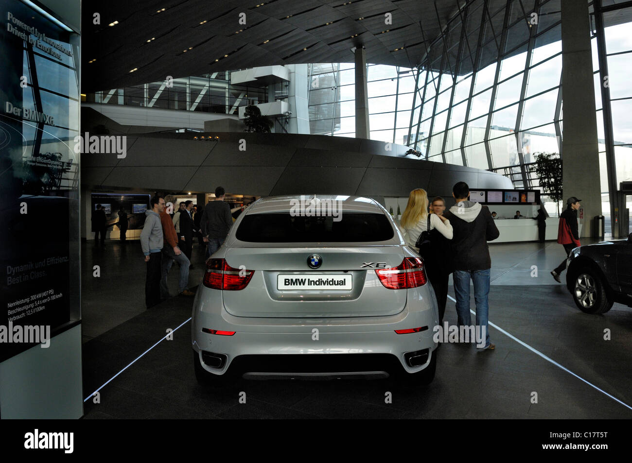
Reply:
[[[605,313],[614,303],[632,307],[632,233],[574,248],[567,263],[566,287],[581,311]]]

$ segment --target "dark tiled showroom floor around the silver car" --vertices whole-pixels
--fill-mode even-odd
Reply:
[[[182,297],[144,310],[142,253],[138,243],[126,246],[125,251],[118,243],[83,249],[83,327],[90,333],[83,344],[85,397],[152,347],[167,328],[191,316],[191,299]],[[548,274],[563,258],[558,246],[491,246],[498,265],[492,278],[511,279],[512,286],[492,284],[490,321],[632,405],[632,309],[615,304],[604,315],[577,310],[564,286]],[[192,286],[202,275],[195,248],[194,256]],[[101,265],[100,279],[92,277],[93,262]],[[540,284],[518,271],[531,265],[544,268]],[[169,275],[172,292],[176,270]],[[446,320],[456,322],[451,301]],[[611,340],[603,339],[604,328],[611,330]],[[160,342],[102,388],[99,404],[85,402],[85,418],[632,418],[627,407],[499,330],[490,328],[490,334],[495,351],[444,344],[437,376],[425,388],[402,388],[390,379],[240,380],[216,390],[195,380],[186,323],[173,340]],[[392,404],[384,401],[387,392]],[[533,392],[537,404],[531,402]]]

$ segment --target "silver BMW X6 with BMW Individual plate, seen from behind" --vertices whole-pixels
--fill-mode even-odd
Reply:
[[[207,260],[191,322],[198,380],[387,373],[431,382],[439,313],[423,260],[377,201],[305,198],[255,201]]]

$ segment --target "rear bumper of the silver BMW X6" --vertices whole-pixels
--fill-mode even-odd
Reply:
[[[433,328],[439,323],[430,285],[416,288],[396,315],[355,318],[250,318],[230,315],[221,291],[200,286],[193,306],[191,343],[202,367],[216,375],[249,372],[334,373],[404,371],[428,366],[437,343]],[[218,298],[219,296],[219,298]],[[427,327],[418,333],[395,330]],[[202,328],[235,332],[212,335]],[[203,352],[225,356],[221,368],[202,361]],[[418,352],[410,366],[410,354]],[[419,353],[421,352],[421,353]],[[425,352],[425,353],[424,353]],[[207,356],[208,358],[208,356]],[[420,363],[426,359],[425,363]]]

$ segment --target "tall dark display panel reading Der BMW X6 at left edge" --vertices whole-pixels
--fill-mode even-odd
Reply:
[[[79,36],[0,2],[0,361],[80,315]]]

